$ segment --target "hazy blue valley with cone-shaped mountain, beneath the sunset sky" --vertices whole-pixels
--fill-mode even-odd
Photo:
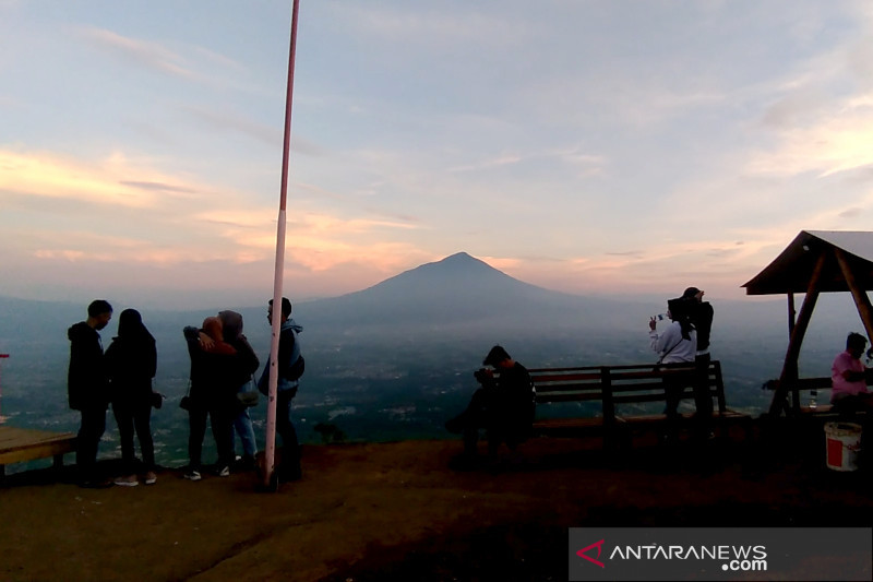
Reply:
[[[298,430],[303,441],[320,440],[313,430],[318,423],[336,425],[350,440],[447,437],[443,423],[466,404],[476,388],[471,372],[491,345],[503,344],[528,367],[654,363],[647,322],[663,311],[666,299],[560,294],[459,253],[369,289],[296,304],[307,357],[295,401]],[[713,302],[713,357],[722,361],[728,404],[757,414],[770,396],[761,384],[778,377],[788,344],[786,300]],[[115,307],[118,314],[137,306],[115,299]],[[186,392],[189,359],[181,329],[226,308],[243,314],[246,334],[263,364],[270,342],[264,307],[141,310],[157,340],[155,390],[168,396],[153,414],[163,464],[186,462],[187,415],[178,402]],[[67,406],[67,328],[84,319],[84,312],[82,305],[0,298],[0,353],[11,355],[0,364],[0,414],[8,423],[76,429],[77,413]],[[848,295],[823,296],[801,354],[801,373],[827,376],[848,331],[862,329]],[[116,320],[103,332],[105,347],[115,331]],[[538,414],[578,414],[574,406],[541,407]],[[263,399],[252,413],[263,439]],[[115,455],[111,413],[107,418],[103,454]]]

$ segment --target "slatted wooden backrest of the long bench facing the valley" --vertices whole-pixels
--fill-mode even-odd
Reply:
[[[639,364],[631,366],[587,366],[581,368],[539,368],[528,370],[537,388],[537,402],[596,401],[603,403],[603,416],[615,414],[615,406],[630,403],[659,402],[666,400],[665,384],[681,385],[682,399],[694,397],[696,379],[694,364]],[[725,383],[721,364],[709,363],[707,385],[725,412]]]

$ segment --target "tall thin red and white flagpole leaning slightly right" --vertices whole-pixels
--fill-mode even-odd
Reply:
[[[276,454],[276,387],[278,385],[277,359],[279,355],[279,328],[282,325],[282,280],[285,273],[285,222],[288,199],[288,159],[291,151],[291,104],[294,100],[294,62],[297,56],[297,13],[300,0],[294,0],[291,9],[291,47],[288,56],[288,87],[285,95],[285,143],[282,152],[282,189],[279,191],[279,215],[276,228],[276,265],[273,276],[273,337],[270,344],[270,390],[266,403],[266,448],[264,450],[264,486],[270,487],[275,472]],[[286,447],[288,443],[283,443]]]

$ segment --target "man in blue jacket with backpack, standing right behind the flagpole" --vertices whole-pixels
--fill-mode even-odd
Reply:
[[[301,357],[300,340],[298,335],[303,331],[291,319],[292,306],[287,297],[282,298],[282,322],[279,326],[279,351],[278,351],[278,378],[276,380],[276,433],[282,438],[283,454],[282,462],[276,467],[274,475],[279,483],[298,480],[303,476],[300,465],[300,443],[297,440],[297,430],[291,423],[291,401],[297,395],[299,379],[287,378],[287,370]],[[267,302],[266,320],[273,324],[273,299]],[[270,385],[270,358],[266,360],[261,378],[258,380],[258,389],[266,394]]]

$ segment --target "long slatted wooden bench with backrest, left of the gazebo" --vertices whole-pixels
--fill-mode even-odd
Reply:
[[[534,423],[538,436],[571,437],[600,435],[603,446],[630,442],[632,432],[646,427],[667,426],[667,415],[654,412],[651,403],[666,403],[666,385],[681,388],[680,401],[693,400],[696,369],[693,364],[653,364],[631,366],[587,366],[579,368],[530,369],[537,389],[539,413],[542,406],[559,403],[599,403],[594,416],[540,418]],[[713,425],[751,420],[749,415],[731,411],[725,399],[721,364],[710,361],[707,387],[713,406]],[[555,411],[558,412],[558,411]],[[678,425],[685,425],[691,414],[680,414]]]

